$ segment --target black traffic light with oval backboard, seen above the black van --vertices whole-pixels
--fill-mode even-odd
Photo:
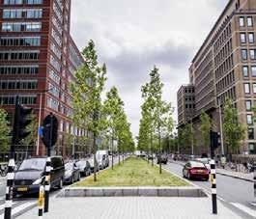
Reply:
[[[52,148],[58,139],[58,119],[50,113],[43,120],[43,144],[47,148]]]

